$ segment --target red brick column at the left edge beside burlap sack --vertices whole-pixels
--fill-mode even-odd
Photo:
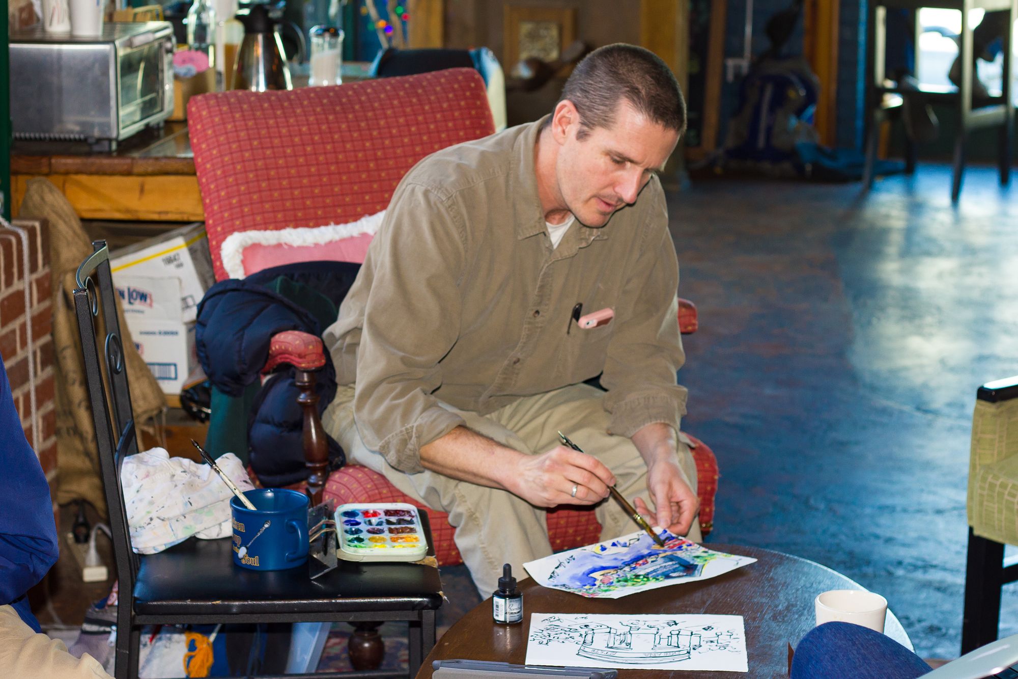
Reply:
[[[52,305],[50,302],[49,229],[43,222],[18,220],[14,224],[27,230],[29,270],[24,270],[20,234],[0,226],[0,355],[10,379],[14,407],[21,416],[21,427],[29,445],[36,451],[55,497],[57,474],[57,438],[54,384]],[[24,307],[24,280],[30,290],[29,308]],[[29,346],[29,324],[32,346]],[[32,427],[32,384],[29,362],[35,364],[36,412],[39,439]],[[54,506],[54,511],[56,507]]]

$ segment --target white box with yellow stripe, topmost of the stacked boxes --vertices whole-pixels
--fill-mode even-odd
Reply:
[[[216,281],[204,224],[189,224],[110,253],[114,284],[123,276],[180,279],[180,320],[197,318],[197,304]]]

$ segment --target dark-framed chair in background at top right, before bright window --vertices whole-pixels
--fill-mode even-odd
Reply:
[[[873,186],[878,147],[880,146],[881,127],[892,111],[900,111],[904,97],[911,95],[911,90],[898,87],[887,80],[885,69],[885,48],[887,45],[886,13],[888,9],[905,9],[918,12],[927,7],[939,9],[956,9],[961,11],[961,33],[959,35],[959,54],[961,55],[961,86],[957,91],[922,90],[924,100],[955,103],[958,106],[958,132],[955,135],[954,160],[951,174],[951,201],[957,202],[961,195],[962,175],[965,172],[969,135],[984,127],[997,127],[998,169],[1001,186],[1011,181],[1011,147],[1014,143],[1015,107],[1012,102],[1014,85],[1014,59],[1011,55],[1012,31],[1006,31],[1003,42],[1003,84],[1000,96],[991,96],[985,100],[973,97],[973,82],[975,79],[975,60],[973,56],[972,22],[969,11],[984,9],[986,11],[1003,10],[1009,12],[1008,25],[1013,27],[1018,19],[1018,0],[871,0],[867,28],[867,60],[866,60],[866,114],[868,130],[866,133],[866,159],[862,175],[862,185],[868,190]],[[918,46],[918,36],[914,44]],[[975,105],[978,104],[978,107]],[[917,160],[915,142],[905,139],[905,172],[915,171]]]

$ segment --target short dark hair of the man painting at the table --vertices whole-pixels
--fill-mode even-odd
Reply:
[[[686,102],[678,81],[654,52],[616,43],[590,52],[573,69],[559,102],[568,99],[579,112],[582,140],[595,127],[611,127],[619,101],[666,129],[686,129]]]

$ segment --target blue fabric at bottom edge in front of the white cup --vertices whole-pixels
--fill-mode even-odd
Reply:
[[[791,679],[915,679],[930,667],[889,636],[849,623],[826,623],[795,648]]]

